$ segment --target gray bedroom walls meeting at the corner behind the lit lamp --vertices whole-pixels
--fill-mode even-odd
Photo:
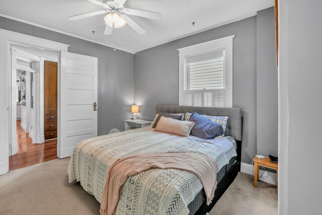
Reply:
[[[133,102],[140,105],[138,117],[142,119],[153,119],[156,104],[178,104],[177,49],[234,34],[233,106],[243,109],[241,161],[251,163],[252,157],[259,152],[264,155],[277,152],[276,140],[269,139],[273,134],[277,136],[273,19],[273,8],[267,9],[255,17],[137,52],[135,60],[131,53],[113,51],[110,47],[3,17],[0,17],[0,28],[70,44],[69,52],[99,58],[99,135],[114,127],[123,130],[123,120],[131,116]],[[268,113],[275,115],[268,117]],[[265,121],[265,124],[259,121]]]

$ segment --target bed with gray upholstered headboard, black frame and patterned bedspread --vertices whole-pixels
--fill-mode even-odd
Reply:
[[[196,152],[216,160],[217,189],[210,205],[198,177],[176,169],[150,169],[130,176],[120,189],[115,214],[205,214],[229,187],[240,170],[242,118],[240,108],[157,105],[156,113],[192,113],[228,116],[225,136],[212,140],[180,137],[153,131],[151,126],[83,140],[75,147],[69,182],[101,202],[109,167],[119,158],[139,153]]]

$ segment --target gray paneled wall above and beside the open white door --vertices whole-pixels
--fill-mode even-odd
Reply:
[[[134,54],[4,17],[0,28],[69,44],[69,52],[98,57],[98,134],[124,130],[134,102]]]

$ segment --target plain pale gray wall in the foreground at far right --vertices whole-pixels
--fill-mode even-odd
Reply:
[[[279,4],[279,214],[321,214],[322,1]]]

